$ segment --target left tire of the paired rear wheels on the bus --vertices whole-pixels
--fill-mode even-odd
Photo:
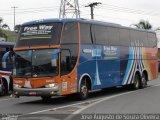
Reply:
[[[140,88],[140,76],[135,74],[134,76],[134,83],[131,85],[133,90],[137,90]]]

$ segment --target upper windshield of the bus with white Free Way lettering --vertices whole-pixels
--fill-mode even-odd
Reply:
[[[21,27],[16,47],[59,44],[62,23],[31,24]]]

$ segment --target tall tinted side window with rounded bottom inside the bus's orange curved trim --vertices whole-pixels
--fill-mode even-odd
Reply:
[[[61,41],[61,74],[71,72],[78,58],[77,23],[66,23]]]

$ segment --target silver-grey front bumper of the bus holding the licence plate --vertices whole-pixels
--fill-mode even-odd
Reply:
[[[14,88],[16,96],[54,96],[60,95],[59,86],[53,88]]]

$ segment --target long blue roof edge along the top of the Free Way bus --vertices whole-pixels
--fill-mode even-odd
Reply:
[[[154,32],[153,30],[145,30],[145,29],[137,29],[137,28],[131,28],[131,27],[126,27],[122,26],[120,24],[116,23],[109,23],[109,22],[103,22],[103,21],[97,21],[97,20],[91,20],[91,19],[74,19],[74,18],[64,18],[64,19],[59,19],[59,18],[52,18],[52,19],[42,19],[42,20],[35,20],[35,21],[30,21],[26,22],[23,25],[33,25],[33,24],[45,24],[45,23],[53,23],[53,22],[60,22],[60,23],[66,23],[66,22],[81,22],[81,23],[90,23],[90,24],[96,24],[96,25],[104,25],[104,26],[110,26],[110,27],[117,27],[117,28],[124,28],[124,29],[131,29],[131,30],[138,30],[138,31],[148,31],[148,32]]]

